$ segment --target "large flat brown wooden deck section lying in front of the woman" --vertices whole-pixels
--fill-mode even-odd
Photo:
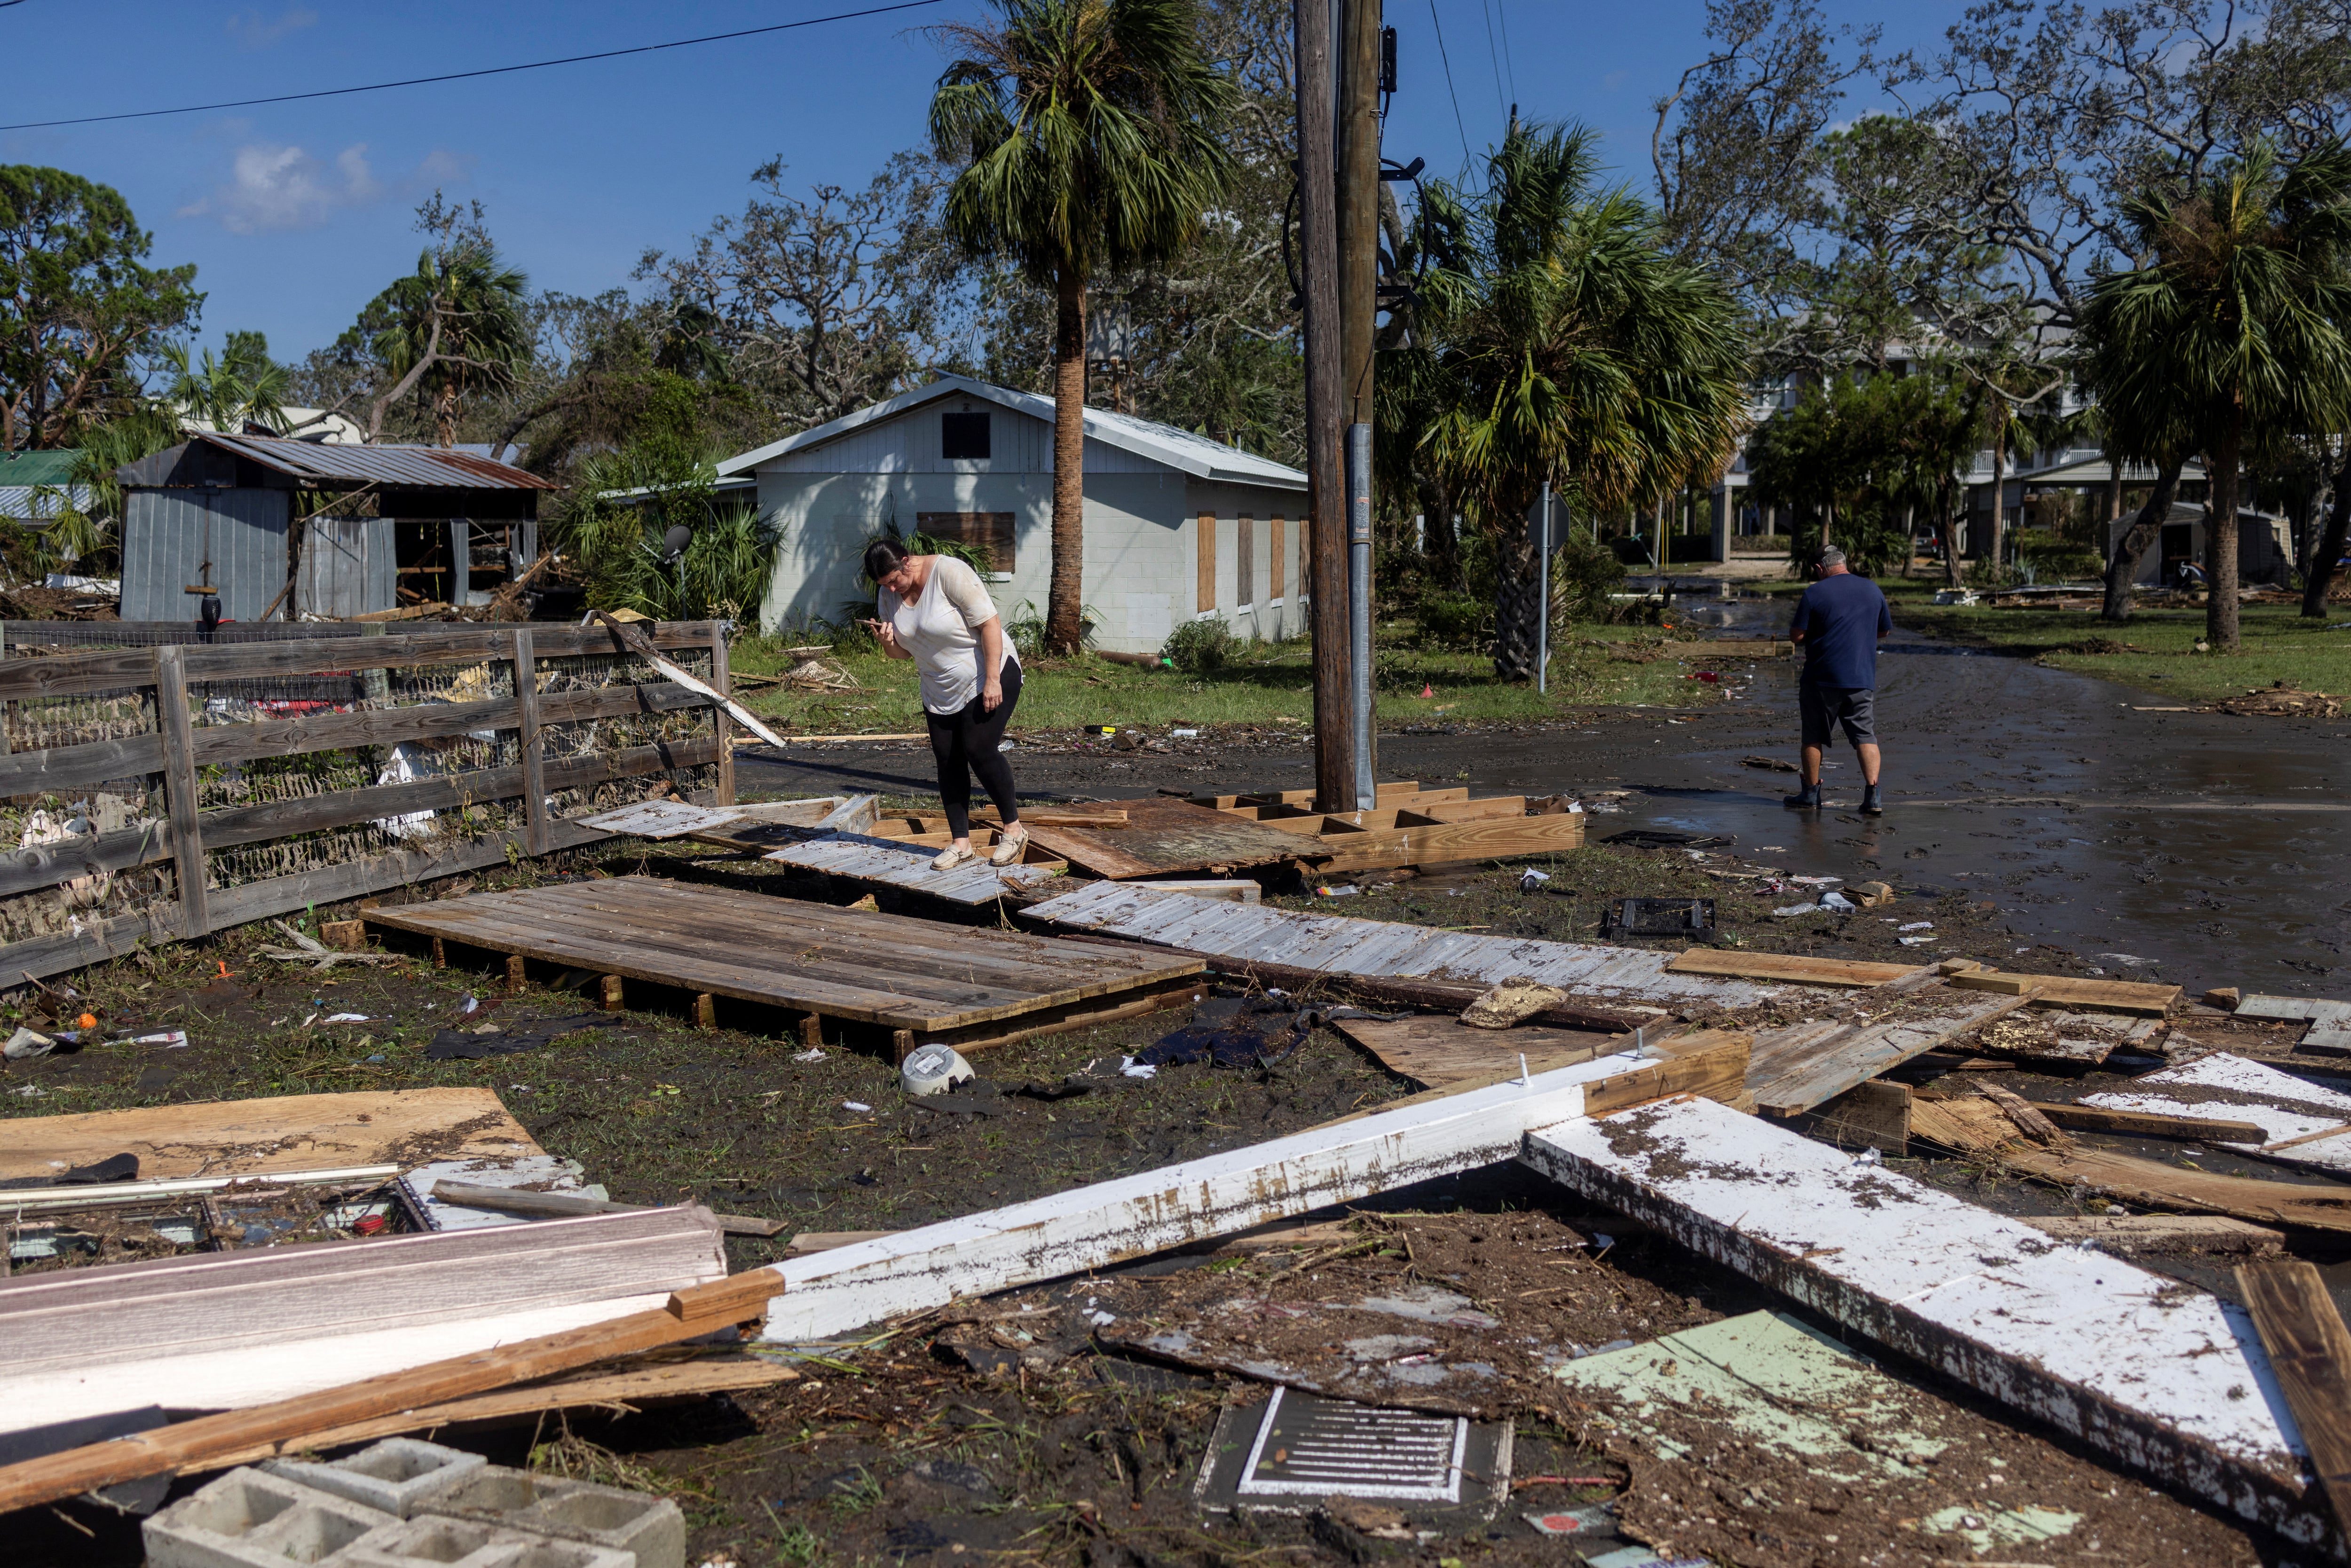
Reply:
[[[896,1056],[947,1041],[959,1051],[1002,1046],[1133,1018],[1194,997],[1199,959],[1150,950],[1060,943],[1018,931],[945,926],[898,914],[837,910],[736,889],[656,877],[611,877],[520,893],[475,893],[369,910],[388,931],[451,947],[505,954],[508,976],[536,959],[602,973],[604,1004],[642,980],[694,997],[712,1023],[731,997],[797,1016],[802,1039],[832,1034],[886,1041]]]

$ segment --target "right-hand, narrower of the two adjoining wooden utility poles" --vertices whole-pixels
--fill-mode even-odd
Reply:
[[[1347,614],[1354,696],[1354,806],[1375,804],[1371,712],[1371,327],[1380,306],[1380,0],[1340,0],[1338,317],[1347,378]]]

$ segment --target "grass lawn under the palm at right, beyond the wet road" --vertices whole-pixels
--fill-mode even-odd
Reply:
[[[2201,607],[2142,609],[2114,625],[2092,609],[1930,604],[1930,583],[1886,583],[1886,597],[1900,625],[1930,637],[2012,649],[2182,703],[2243,696],[2280,679],[2304,691],[2351,693],[2351,628],[2304,621],[2295,604],[2245,604],[2243,651],[2196,654]]]

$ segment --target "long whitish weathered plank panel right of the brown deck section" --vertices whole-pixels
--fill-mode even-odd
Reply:
[[[1220,959],[1255,959],[1321,973],[1486,985],[1528,976],[1582,1001],[1639,1001],[1667,1009],[1688,1001],[1751,1006],[1777,994],[1777,987],[1751,980],[1674,973],[1667,964],[1679,954],[1646,947],[1469,936],[1389,919],[1232,905],[1161,893],[1147,882],[1089,882],[1030,905],[1027,914],[1077,931],[1107,931]]]

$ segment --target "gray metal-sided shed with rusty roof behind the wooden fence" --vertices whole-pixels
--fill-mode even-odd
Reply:
[[[118,477],[125,621],[197,621],[205,590],[223,621],[341,621],[395,609],[402,588],[482,604],[536,559],[538,491],[557,489],[461,449],[216,433]]]

